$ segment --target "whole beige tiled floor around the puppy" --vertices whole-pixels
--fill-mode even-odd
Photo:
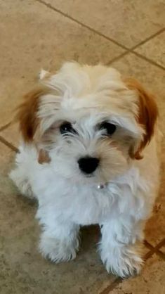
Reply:
[[[165,141],[159,198],[145,232],[147,261],[140,276],[125,281],[101,264],[97,227],[82,231],[77,260],[44,260],[36,205],[8,179],[19,138],[13,109],[40,68],[55,69],[64,60],[113,65],[156,94],[165,123],[164,19],[164,0],[0,0],[0,293],[165,293]]]

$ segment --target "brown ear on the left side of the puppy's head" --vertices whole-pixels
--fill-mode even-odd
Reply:
[[[38,142],[34,140],[34,135],[39,128],[39,117],[37,111],[39,110],[39,98],[48,94],[48,89],[45,87],[38,87],[30,91],[24,97],[24,102],[18,107],[18,114],[16,119],[20,125],[20,132],[25,143],[34,141],[35,145]],[[48,153],[43,149],[39,150],[39,163],[49,162]]]

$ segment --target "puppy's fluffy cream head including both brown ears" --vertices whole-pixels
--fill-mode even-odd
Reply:
[[[106,183],[124,173],[150,141],[157,106],[119,72],[67,63],[25,98],[18,117],[24,140],[70,181]]]

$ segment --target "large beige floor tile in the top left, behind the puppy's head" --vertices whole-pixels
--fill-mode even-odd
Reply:
[[[12,119],[41,68],[57,69],[73,59],[107,63],[124,52],[37,1],[1,1],[0,19],[0,127]]]

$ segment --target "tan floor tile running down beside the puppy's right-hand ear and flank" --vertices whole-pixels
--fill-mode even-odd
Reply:
[[[120,70],[123,75],[136,77],[144,86],[152,91],[156,98],[160,111],[160,120],[162,127],[165,124],[165,75],[164,70],[157,68],[147,61],[128,54],[117,62],[112,63],[112,66]],[[162,129],[165,134],[164,128]],[[149,243],[157,245],[165,236],[165,199],[164,199],[164,185],[165,185],[165,139],[162,143],[161,152],[161,184],[157,201],[155,203],[154,212],[150,220],[147,222],[145,236]]]

